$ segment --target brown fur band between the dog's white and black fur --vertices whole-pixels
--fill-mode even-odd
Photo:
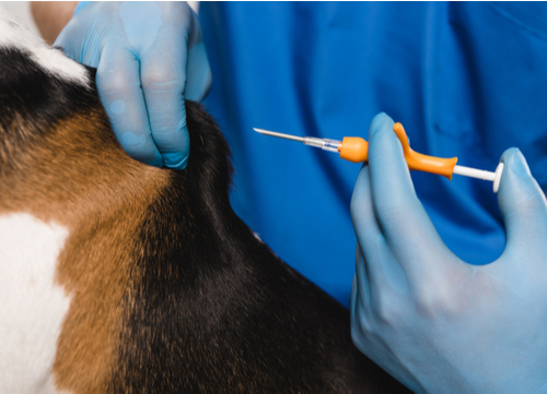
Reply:
[[[0,150],[0,214],[26,212],[70,230],[56,280],[71,305],[54,373],[58,387],[78,393],[104,392],[112,378],[121,300],[133,290],[129,275],[138,275],[130,246],[144,210],[166,184],[161,169],[124,153],[103,119],[96,111],[82,114],[51,124],[32,150],[9,140]],[[21,118],[11,127],[35,134]]]

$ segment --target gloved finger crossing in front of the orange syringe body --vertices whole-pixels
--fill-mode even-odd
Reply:
[[[419,284],[446,271],[456,259],[437,232],[416,195],[394,122],[385,114],[370,129],[369,166],[373,203],[382,232],[408,280]],[[435,259],[430,258],[434,255]]]

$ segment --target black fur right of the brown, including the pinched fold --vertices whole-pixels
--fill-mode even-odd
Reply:
[[[348,311],[234,214],[226,142],[199,105],[186,108],[190,159],[150,206],[121,341],[147,346],[120,349],[116,391],[404,391],[352,345]]]

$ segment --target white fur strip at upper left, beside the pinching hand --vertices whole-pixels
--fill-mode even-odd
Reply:
[[[53,49],[36,37],[26,27],[11,19],[8,11],[0,5],[0,48],[18,48],[24,50],[42,65],[44,71],[63,80],[89,86],[85,68],[67,58],[58,49]]]

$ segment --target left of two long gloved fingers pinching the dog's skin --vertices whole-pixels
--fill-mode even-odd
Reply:
[[[114,133],[135,159],[162,167],[147,117],[139,77],[139,61],[127,48],[104,50],[96,73],[98,95]]]

